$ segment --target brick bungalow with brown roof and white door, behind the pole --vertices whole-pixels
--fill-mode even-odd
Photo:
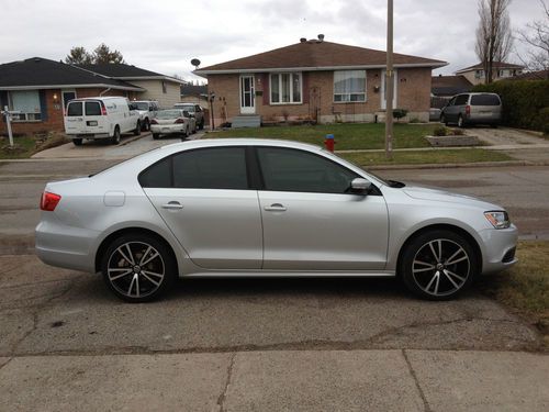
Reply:
[[[215,94],[215,124],[312,119],[373,122],[384,116],[385,52],[318,40],[199,68]],[[446,62],[394,54],[393,107],[428,121],[432,70]]]

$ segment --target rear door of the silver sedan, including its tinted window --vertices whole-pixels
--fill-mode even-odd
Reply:
[[[245,147],[180,152],[143,171],[139,182],[194,264],[261,267],[261,215]]]

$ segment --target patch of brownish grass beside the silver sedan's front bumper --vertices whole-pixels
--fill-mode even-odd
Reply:
[[[549,348],[549,242],[519,242],[518,264],[484,276],[479,287],[537,325]]]

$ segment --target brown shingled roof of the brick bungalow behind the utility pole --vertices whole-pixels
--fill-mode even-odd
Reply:
[[[395,67],[441,67],[448,63],[395,53]],[[381,68],[386,53],[324,41],[305,41],[270,52],[237,58],[194,70],[197,75],[271,71],[281,69],[333,70]]]

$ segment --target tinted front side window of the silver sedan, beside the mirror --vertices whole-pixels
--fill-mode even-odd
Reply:
[[[266,190],[345,193],[354,171],[312,153],[258,147]]]

